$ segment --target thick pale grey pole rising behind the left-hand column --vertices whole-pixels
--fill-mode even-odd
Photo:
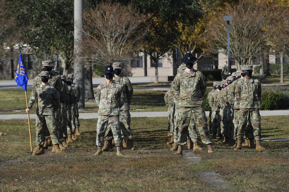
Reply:
[[[79,108],[84,108],[84,61],[81,52],[83,40],[83,10],[84,0],[74,0],[74,83],[79,85],[80,99]]]

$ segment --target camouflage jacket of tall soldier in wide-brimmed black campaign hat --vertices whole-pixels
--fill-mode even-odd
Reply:
[[[200,71],[194,69],[189,74],[184,70],[176,75],[173,88],[179,107],[197,107],[204,104],[207,80]]]

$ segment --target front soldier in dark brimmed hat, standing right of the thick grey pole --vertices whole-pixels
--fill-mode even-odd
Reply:
[[[118,83],[113,81],[113,75],[117,72],[113,70],[111,65],[105,67],[106,81],[97,86],[95,90],[95,101],[99,106],[98,120],[97,120],[97,135],[96,145],[97,152],[95,155],[101,155],[103,139],[105,136],[108,123],[112,129],[114,137],[114,145],[116,146],[116,154],[121,154],[121,129],[119,122],[119,111],[122,109],[128,109],[127,98],[123,93],[123,88]]]

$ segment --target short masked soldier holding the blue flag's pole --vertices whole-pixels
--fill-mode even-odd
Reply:
[[[36,144],[38,145],[32,155],[41,155],[44,153],[44,142],[45,142],[45,128],[47,127],[53,143],[52,152],[60,153],[59,144],[59,132],[56,128],[57,121],[55,119],[55,111],[60,107],[60,99],[57,90],[49,85],[49,72],[42,71],[40,73],[42,83],[33,88],[30,100],[28,103],[28,109],[26,112],[29,113],[34,102],[37,103],[36,108]]]

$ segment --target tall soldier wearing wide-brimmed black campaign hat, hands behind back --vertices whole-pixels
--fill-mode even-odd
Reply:
[[[193,68],[196,60],[197,58],[191,53],[187,53],[181,59],[186,64],[186,70],[178,73],[173,82],[174,94],[179,102],[178,150],[175,153],[178,155],[183,155],[182,149],[187,142],[188,127],[193,123],[196,123],[201,140],[208,147],[208,153],[214,152],[203,102],[207,81],[203,73]]]

